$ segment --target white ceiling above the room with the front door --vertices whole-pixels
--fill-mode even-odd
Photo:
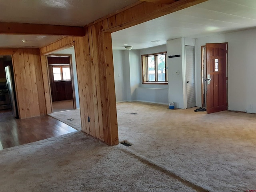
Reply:
[[[200,38],[256,27],[256,0],[209,0],[112,33],[113,49],[166,44],[167,40]],[[150,41],[160,40],[158,43]]]

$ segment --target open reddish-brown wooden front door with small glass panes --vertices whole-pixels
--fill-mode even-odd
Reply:
[[[227,44],[206,44],[207,114],[227,109]]]

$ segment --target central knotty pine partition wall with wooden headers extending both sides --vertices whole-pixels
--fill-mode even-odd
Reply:
[[[81,121],[84,132],[109,145],[118,144],[111,32],[204,1],[206,0],[179,0],[169,5],[150,2],[136,3],[130,8],[125,8],[89,24],[85,27],[86,35],[84,37],[69,37],[40,49],[41,54],[48,54],[59,48],[63,49],[72,40],[74,41]],[[43,69],[43,74],[44,71],[45,69]]]

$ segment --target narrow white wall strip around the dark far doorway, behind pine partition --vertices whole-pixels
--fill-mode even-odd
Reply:
[[[77,80],[77,72],[76,72],[76,55],[74,47],[67,48],[58,52],[54,52],[55,54],[72,54],[72,66],[73,66],[73,76],[74,76],[74,88],[75,88],[75,96],[76,96],[76,108],[80,109],[79,105],[79,94],[78,94],[78,80]]]

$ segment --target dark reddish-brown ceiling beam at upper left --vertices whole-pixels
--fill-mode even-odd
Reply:
[[[0,22],[0,34],[84,36],[83,27]]]

